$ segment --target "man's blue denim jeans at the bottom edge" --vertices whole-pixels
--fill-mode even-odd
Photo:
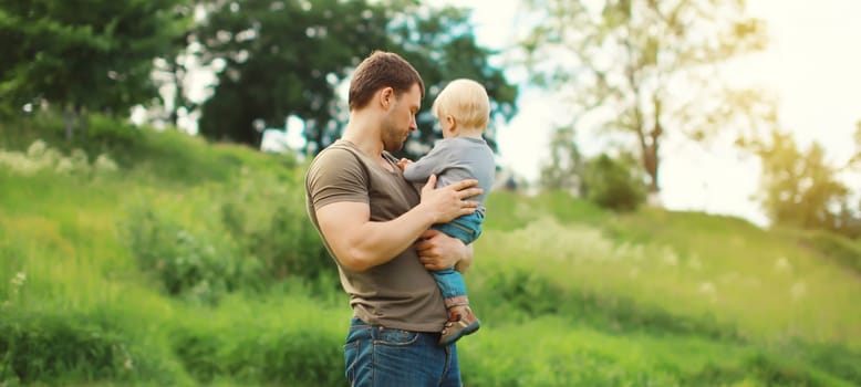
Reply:
[[[344,344],[346,379],[359,387],[460,387],[457,346],[439,334],[367,325],[353,317]]]

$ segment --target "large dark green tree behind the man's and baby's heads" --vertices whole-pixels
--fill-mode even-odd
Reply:
[[[438,136],[429,107],[455,77],[485,84],[496,117],[514,114],[517,90],[488,64],[491,52],[476,44],[463,10],[363,0],[219,1],[207,9],[199,30],[204,57],[225,63],[203,107],[200,133],[209,138],[259,146],[263,128],[283,127],[287,116],[295,115],[305,124],[308,150],[324,148],[346,118],[336,87],[376,49],[411,61],[428,91],[419,135],[398,156],[415,157]]]

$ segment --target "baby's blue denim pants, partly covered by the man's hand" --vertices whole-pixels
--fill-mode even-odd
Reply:
[[[464,244],[469,244],[481,234],[481,223],[484,221],[485,217],[481,213],[474,212],[456,218],[448,223],[434,224],[430,228],[439,230],[449,237],[457,238],[464,241]],[[454,268],[432,271],[430,274],[434,274],[439,292],[443,293],[443,299],[466,295],[464,276]]]

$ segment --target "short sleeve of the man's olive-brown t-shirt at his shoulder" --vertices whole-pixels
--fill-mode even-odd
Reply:
[[[350,150],[323,150],[308,169],[305,189],[314,210],[341,201],[369,203],[367,174]]]

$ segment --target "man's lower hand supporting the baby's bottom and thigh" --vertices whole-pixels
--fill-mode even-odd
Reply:
[[[461,240],[438,230],[422,233],[415,249],[418,260],[427,270],[457,268],[457,271],[465,273],[473,264],[471,245],[465,245]]]

